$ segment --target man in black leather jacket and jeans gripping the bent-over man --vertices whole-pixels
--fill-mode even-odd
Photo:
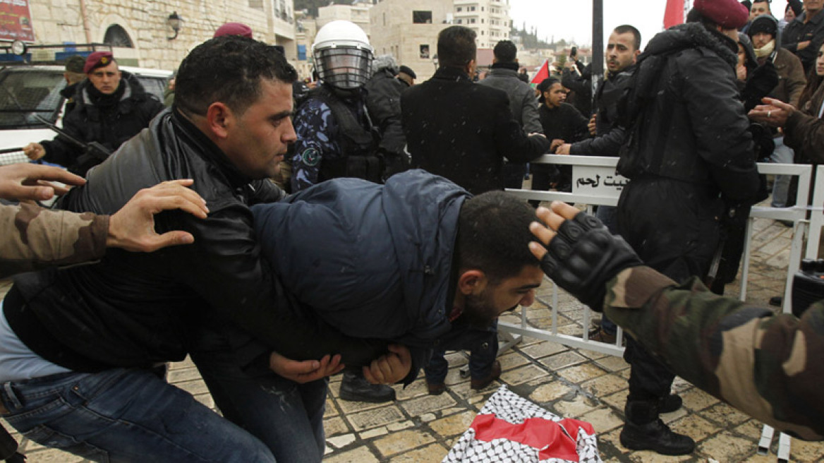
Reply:
[[[283,197],[265,179],[295,140],[289,120],[295,77],[281,54],[255,40],[227,36],[199,45],[181,63],[173,109],[64,200],[74,211],[113,213],[138,189],[192,178],[209,216],[158,214],[157,231],[190,232],[190,246],[152,255],[113,250],[100,264],[16,279],[3,302],[8,324],[0,336],[25,363],[0,368],[6,386],[0,403],[18,431],[94,459],[274,461],[271,442],[263,445],[213,414],[151,367],[190,352],[194,358],[196,351],[213,361],[205,370],[199,362],[211,388],[222,381],[252,384],[247,372],[260,367],[272,367],[283,381],[317,380],[339,369],[340,357],[326,353],[358,365],[385,351],[382,343],[345,338],[307,320],[260,259],[249,206]],[[0,353],[0,362],[9,358]],[[323,381],[311,384],[325,390]],[[214,396],[232,418],[233,399],[260,400]],[[54,413],[28,413],[41,407]],[[305,445],[317,451],[314,442]],[[287,450],[302,450],[293,447]]]

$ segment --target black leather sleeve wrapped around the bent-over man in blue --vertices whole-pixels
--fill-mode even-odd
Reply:
[[[261,258],[246,206],[227,200],[210,201],[209,208],[211,213],[204,220],[168,213],[159,221],[194,235],[194,245],[175,248],[177,258],[166,261],[176,267],[171,270],[181,283],[208,302],[218,316],[225,316],[270,348],[296,360],[340,353],[343,362],[353,366],[368,364],[385,352],[385,343],[344,336],[303,311],[283,291]]]

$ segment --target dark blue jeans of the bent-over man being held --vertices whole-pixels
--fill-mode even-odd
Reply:
[[[321,461],[327,381],[298,384],[265,367],[241,370],[231,346],[236,345],[232,340],[246,337],[230,327],[198,329],[191,358],[215,405],[226,419],[264,442],[279,463]]]

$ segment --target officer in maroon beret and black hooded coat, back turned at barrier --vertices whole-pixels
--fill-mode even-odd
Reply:
[[[656,35],[639,57],[627,102],[630,129],[618,171],[618,229],[653,269],[676,281],[705,277],[719,248],[725,203],[747,203],[759,181],[749,122],[735,82],[735,0],[696,0],[687,24]],[[686,455],[695,442],[658,414],[674,375],[633,339],[630,394],[620,442],[633,450]]]

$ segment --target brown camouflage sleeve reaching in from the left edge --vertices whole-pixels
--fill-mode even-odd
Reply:
[[[109,216],[51,211],[30,203],[0,206],[0,278],[105,254]]]

